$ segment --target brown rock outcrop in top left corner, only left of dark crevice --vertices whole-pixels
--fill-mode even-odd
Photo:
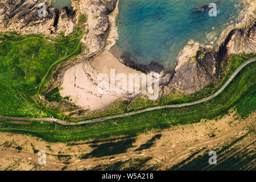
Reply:
[[[39,0],[0,2],[0,31],[23,31],[45,35],[55,31],[53,24],[58,10],[51,8],[51,0],[48,0],[45,2],[46,16],[42,18],[38,15],[38,3]]]

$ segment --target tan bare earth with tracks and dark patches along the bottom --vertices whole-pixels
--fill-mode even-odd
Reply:
[[[170,129],[140,134],[133,138],[132,145],[124,151],[121,149],[125,146],[118,145],[118,142],[127,140],[122,137],[100,141],[49,143],[27,135],[0,133],[0,158],[3,160],[0,169],[84,170],[93,169],[102,164],[111,166],[116,162],[131,163],[131,160],[138,158],[149,159],[141,166],[141,169],[143,167],[147,169],[148,166],[154,166],[154,169],[170,169],[202,148],[212,149],[232,143],[237,137],[246,135],[249,129],[255,130],[255,121],[256,113],[246,119],[240,119],[234,111],[230,111],[229,115],[221,119],[202,120],[199,123],[172,126]],[[252,142],[255,142],[254,133],[249,136],[243,141],[245,146],[250,146]],[[93,156],[95,152],[101,152],[100,146],[104,145],[105,155]],[[118,150],[121,152],[115,152]],[[46,152],[46,166],[38,164],[38,151]],[[82,158],[86,154],[92,154],[92,156]],[[5,162],[7,159],[9,162]],[[14,163],[12,161],[18,159],[24,163],[23,167],[9,167]],[[27,166],[27,162],[31,165]],[[126,169],[129,163],[125,163],[122,168]]]

